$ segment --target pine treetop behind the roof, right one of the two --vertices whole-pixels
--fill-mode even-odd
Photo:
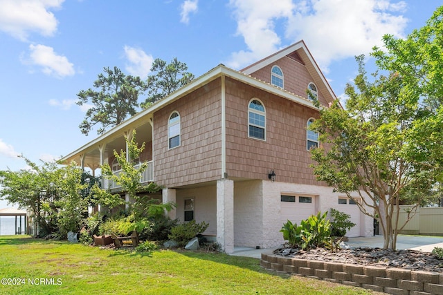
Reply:
[[[187,71],[188,66],[178,61],[177,57],[174,57],[170,64],[157,58],[150,70],[154,74],[147,77],[147,99],[141,104],[142,108],[147,108],[150,104],[170,95],[195,78]]]

